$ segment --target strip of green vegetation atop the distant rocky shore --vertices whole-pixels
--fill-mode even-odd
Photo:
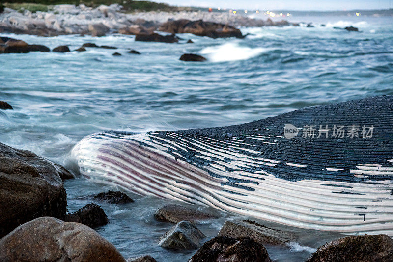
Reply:
[[[118,3],[123,6],[123,12],[134,12],[134,11],[181,11],[181,10],[192,10],[190,7],[175,7],[165,3],[156,3],[151,1],[135,1],[135,0],[7,0],[4,5],[6,7],[16,10],[30,10],[35,11],[46,11],[48,6],[54,4],[85,4],[90,7],[97,7],[101,4],[111,5]]]

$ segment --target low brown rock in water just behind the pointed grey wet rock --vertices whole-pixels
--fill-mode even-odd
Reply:
[[[196,222],[206,219],[216,219],[217,216],[212,214],[203,213],[198,210],[192,210],[180,205],[169,204],[159,208],[154,217],[159,221],[178,223],[183,220]]]

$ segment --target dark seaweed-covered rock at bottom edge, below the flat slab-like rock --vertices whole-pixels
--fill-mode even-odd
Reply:
[[[266,248],[250,237],[216,236],[206,242],[189,262],[271,262]]]

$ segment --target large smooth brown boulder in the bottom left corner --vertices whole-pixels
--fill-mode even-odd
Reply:
[[[93,229],[53,217],[29,221],[2,238],[0,261],[125,262]]]

